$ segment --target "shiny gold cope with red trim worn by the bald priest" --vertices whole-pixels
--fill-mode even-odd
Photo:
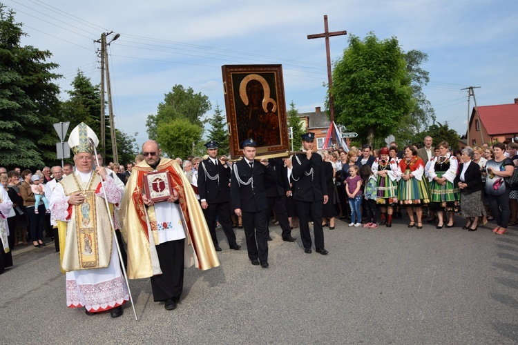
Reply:
[[[185,250],[186,266],[194,264],[201,270],[220,266],[202,208],[184,172],[176,161],[163,157],[156,170],[169,172],[173,188],[180,195],[178,200],[185,220],[184,230],[186,246],[188,246]],[[156,250],[151,248],[149,241],[149,237],[153,236],[153,242],[160,245],[155,210],[153,206],[146,210],[142,201],[144,174],[153,171],[146,161],[133,167],[119,210],[119,219],[122,222],[121,233],[128,244],[127,273],[130,279],[152,277],[158,274],[157,270],[153,271],[153,268],[160,266],[157,262]]]

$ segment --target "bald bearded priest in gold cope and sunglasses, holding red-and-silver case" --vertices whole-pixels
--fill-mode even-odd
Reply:
[[[164,301],[165,308],[172,310],[182,294],[184,267],[194,264],[207,270],[220,262],[182,168],[173,159],[160,157],[156,141],[146,141],[142,151],[144,161],[131,170],[119,210],[121,232],[128,243],[128,278],[151,277],[155,302]],[[160,202],[144,194],[144,175],[155,171],[169,175],[173,187],[173,193]]]

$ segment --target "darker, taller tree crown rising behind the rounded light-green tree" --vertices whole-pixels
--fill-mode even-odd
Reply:
[[[175,119],[187,119],[191,124],[203,126],[203,115],[211,110],[209,97],[201,92],[194,93],[192,88],[184,89],[182,85],[173,86],[173,90],[166,93],[164,102],[158,105],[156,115],[148,115],[146,126],[149,139],[157,139],[160,124]]]

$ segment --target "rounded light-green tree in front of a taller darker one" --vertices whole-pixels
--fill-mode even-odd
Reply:
[[[174,119],[157,128],[157,141],[169,157],[185,159],[193,153],[193,145],[202,139],[203,128],[188,119]]]

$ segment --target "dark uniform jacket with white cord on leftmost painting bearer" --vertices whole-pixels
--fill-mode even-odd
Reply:
[[[210,176],[220,175],[220,179],[211,180],[205,176],[205,169]],[[218,204],[229,201],[229,181],[231,169],[229,166],[225,168],[218,161],[218,166],[213,164],[210,158],[201,161],[198,164],[198,193],[200,200],[205,199],[207,204]]]

